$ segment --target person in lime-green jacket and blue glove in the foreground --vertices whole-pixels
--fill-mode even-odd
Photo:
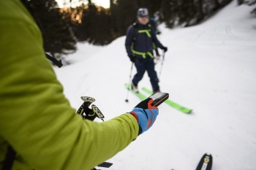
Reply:
[[[103,123],[83,120],[45,58],[42,35],[19,0],[0,0],[0,169],[93,169],[157,118],[152,99]]]

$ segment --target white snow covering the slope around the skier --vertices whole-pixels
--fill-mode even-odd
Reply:
[[[232,1],[198,26],[173,30],[159,26],[159,40],[168,47],[160,88],[193,112],[160,105],[152,128],[110,158],[110,169],[195,169],[206,152],[214,158],[212,170],[256,169],[253,8]],[[129,102],[124,101],[124,83],[129,82],[131,70],[124,41],[122,36],[105,47],[79,43],[77,53],[67,57],[71,65],[54,67],[72,107],[80,107],[80,96],[94,97],[105,120],[110,120],[140,102],[132,93]],[[160,67],[161,61],[156,65],[158,73]],[[147,74],[139,83],[142,87],[151,88]]]

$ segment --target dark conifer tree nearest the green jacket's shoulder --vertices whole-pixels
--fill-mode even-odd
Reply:
[[[75,36],[55,0],[21,0],[42,31],[45,52],[67,54],[76,50]]]

